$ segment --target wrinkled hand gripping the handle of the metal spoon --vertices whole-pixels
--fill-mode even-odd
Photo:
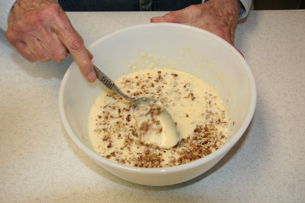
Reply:
[[[55,0],[18,0],[9,15],[5,36],[31,62],[60,62],[69,52],[86,80],[96,79],[93,55]]]

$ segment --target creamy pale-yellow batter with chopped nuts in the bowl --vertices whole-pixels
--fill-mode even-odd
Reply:
[[[132,104],[109,90],[97,98],[88,121],[90,139],[101,156],[132,166],[167,167],[197,160],[225,143],[227,107],[199,78],[169,69],[145,70],[119,79],[116,85],[130,96],[160,101],[181,141],[171,149],[143,142]]]

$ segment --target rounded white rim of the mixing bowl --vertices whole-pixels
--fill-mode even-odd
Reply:
[[[192,29],[194,31],[197,32],[202,32],[204,33],[204,35],[208,35],[212,38],[214,38],[217,41],[221,41],[222,43],[224,43],[224,45],[230,49],[230,51],[232,51],[235,55],[237,55],[237,57],[240,58],[241,62],[243,63],[243,66],[246,69],[246,72],[249,76],[250,79],[250,85],[251,85],[251,104],[250,104],[250,108],[249,111],[247,113],[246,119],[243,121],[243,123],[240,125],[239,129],[237,130],[237,132],[234,134],[234,136],[232,136],[230,138],[230,140],[228,142],[226,142],[222,147],[220,147],[218,150],[216,150],[215,152],[202,157],[198,160],[189,162],[189,163],[185,163],[185,164],[181,164],[181,165],[176,165],[176,166],[170,166],[170,167],[160,167],[160,168],[145,168],[145,167],[136,167],[136,166],[129,166],[129,165],[124,165],[121,163],[117,163],[114,161],[111,161],[105,157],[102,157],[100,155],[98,155],[96,152],[90,150],[88,147],[86,147],[74,134],[72,128],[70,127],[70,125],[68,124],[68,118],[65,115],[65,111],[64,111],[64,90],[69,78],[69,75],[71,74],[72,70],[75,68],[78,68],[78,65],[76,64],[75,61],[73,61],[67,72],[65,73],[62,83],[60,84],[60,88],[59,88],[59,96],[58,96],[58,103],[59,103],[59,113],[60,113],[60,117],[62,118],[62,122],[64,124],[64,127],[67,131],[67,133],[69,134],[70,138],[74,141],[74,143],[83,151],[85,152],[90,158],[93,158],[96,161],[99,161],[105,165],[108,165],[110,167],[116,167],[116,168],[121,168],[127,171],[134,171],[134,172],[140,172],[142,174],[160,174],[160,173],[173,173],[173,172],[180,172],[180,171],[184,171],[184,170],[188,170],[189,168],[193,168],[199,165],[202,165],[206,162],[209,162],[211,160],[214,160],[216,157],[220,156],[221,154],[224,154],[229,151],[237,142],[238,140],[241,138],[241,136],[243,135],[243,133],[246,131],[246,129],[248,128],[252,117],[254,115],[255,112],[255,108],[256,108],[256,101],[257,101],[257,91],[256,91],[256,85],[255,85],[255,81],[254,81],[254,77],[253,74],[250,70],[250,67],[248,65],[248,63],[246,62],[245,58],[237,51],[237,49],[235,49],[232,45],[230,45],[228,42],[226,42],[225,40],[223,40],[222,38],[214,35],[211,32],[208,32],[206,30],[203,30],[201,28],[198,27],[194,27],[191,25],[186,25],[186,24],[178,24],[178,23],[145,23],[145,24],[139,24],[139,25],[134,25],[134,26],[130,26],[130,27],[126,27],[123,29],[119,29],[117,31],[111,32],[108,35],[100,38],[99,40],[95,41],[94,43],[92,43],[90,46],[88,46],[88,49],[96,46],[97,44],[107,40],[108,38],[112,38],[116,35],[120,35],[121,33],[124,33],[126,31],[131,31],[131,30],[135,30],[135,29],[142,29],[145,27],[151,27],[151,26],[156,26],[156,27],[180,27],[180,28],[186,28],[186,29]],[[221,156],[222,158],[222,156]]]

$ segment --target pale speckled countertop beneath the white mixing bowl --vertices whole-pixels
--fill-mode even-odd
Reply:
[[[68,13],[90,45],[165,12]],[[0,31],[0,202],[305,202],[305,10],[251,11],[236,30],[257,84],[257,108],[239,142],[185,183],[121,180],[68,136],[58,110],[72,62],[31,63]]]

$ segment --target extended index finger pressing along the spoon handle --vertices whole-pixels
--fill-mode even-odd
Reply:
[[[75,62],[79,65],[80,71],[86,80],[94,82],[97,77],[88,50],[86,49],[82,38],[70,24],[66,14],[63,13],[62,16],[64,17],[64,21],[58,21],[54,30],[57,32],[59,39],[66,46]]]

